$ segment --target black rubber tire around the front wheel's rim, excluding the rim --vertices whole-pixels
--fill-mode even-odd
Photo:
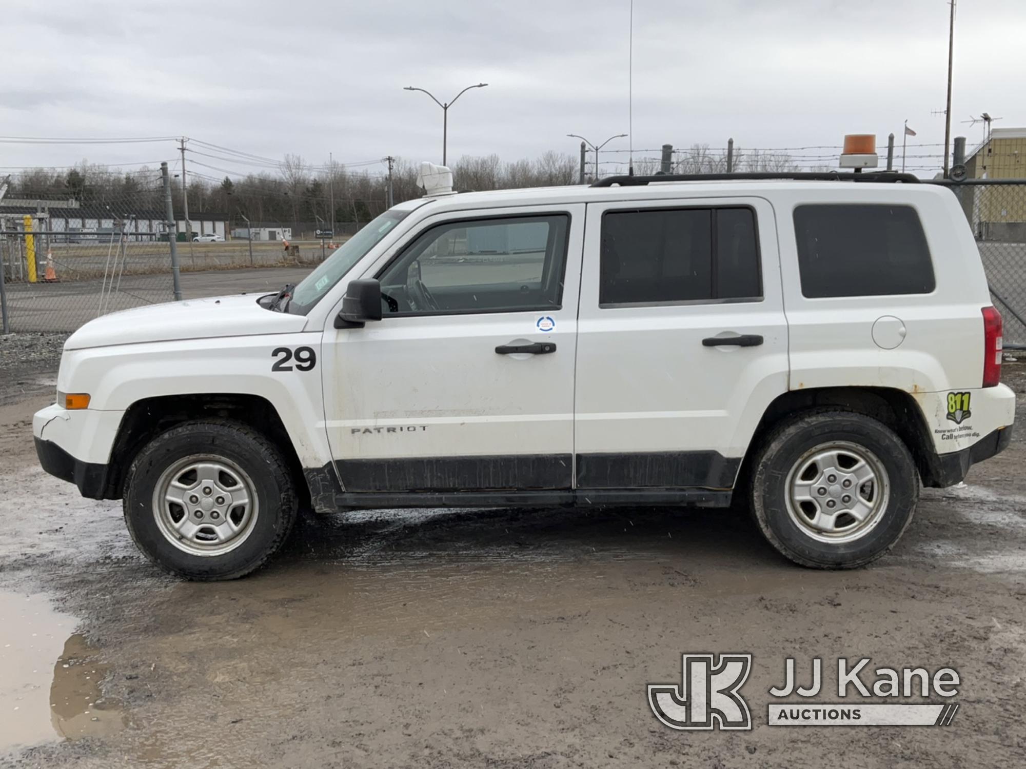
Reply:
[[[193,555],[173,544],[154,513],[161,475],[193,455],[223,457],[249,476],[258,515],[241,543],[219,555]],[[281,452],[245,424],[190,421],[154,438],[135,456],[125,476],[125,524],[135,545],[160,568],[186,579],[235,579],[260,568],[285,541],[295,522],[297,496]]]

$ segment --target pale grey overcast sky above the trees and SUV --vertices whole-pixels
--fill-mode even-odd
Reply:
[[[0,0],[0,134],[184,134],[314,163],[440,162],[441,110],[402,87],[444,102],[484,81],[449,110],[450,159],[576,154],[566,133],[629,130],[629,5]],[[944,0],[635,0],[634,148],[851,132],[883,144],[890,131],[900,148],[906,118],[910,143],[942,143],[932,111],[944,108],[947,29]],[[1024,40],[1024,0],[958,3],[952,135],[978,144],[982,126],[959,121],[984,111],[1003,117],[995,127],[1026,125]],[[0,144],[0,166],[172,160],[173,147]]]

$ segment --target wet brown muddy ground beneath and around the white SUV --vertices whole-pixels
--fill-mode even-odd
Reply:
[[[39,470],[52,378],[0,403],[0,765],[1023,764],[1022,430],[859,571],[793,567],[726,513],[383,511],[307,517],[269,568],[198,584],[134,551],[118,502]],[[1005,379],[1022,423],[1026,367]],[[752,731],[656,721],[645,685],[688,651],[754,655]],[[957,718],[766,725],[786,656],[841,655],[955,667]]]

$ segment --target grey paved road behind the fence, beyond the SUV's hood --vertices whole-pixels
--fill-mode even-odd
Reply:
[[[185,298],[224,296],[232,293],[267,293],[285,283],[303,280],[312,267],[258,268],[182,273]],[[119,290],[109,297],[101,295],[103,281],[68,283],[16,283],[7,286],[7,306],[12,331],[74,331],[106,312],[170,301],[173,296],[170,275],[125,275]]]

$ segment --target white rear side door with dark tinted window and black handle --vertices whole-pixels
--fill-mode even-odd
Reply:
[[[579,488],[729,488],[787,390],[772,205],[588,205],[578,326]]]

